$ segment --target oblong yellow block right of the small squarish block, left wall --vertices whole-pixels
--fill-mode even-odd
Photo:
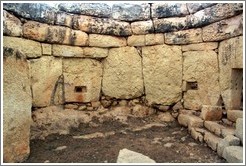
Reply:
[[[83,48],[53,44],[53,56],[60,57],[84,57]]]

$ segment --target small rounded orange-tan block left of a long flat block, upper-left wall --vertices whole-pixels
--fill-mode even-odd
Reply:
[[[88,46],[89,45],[88,34],[79,30],[72,30],[71,44],[75,46]]]

